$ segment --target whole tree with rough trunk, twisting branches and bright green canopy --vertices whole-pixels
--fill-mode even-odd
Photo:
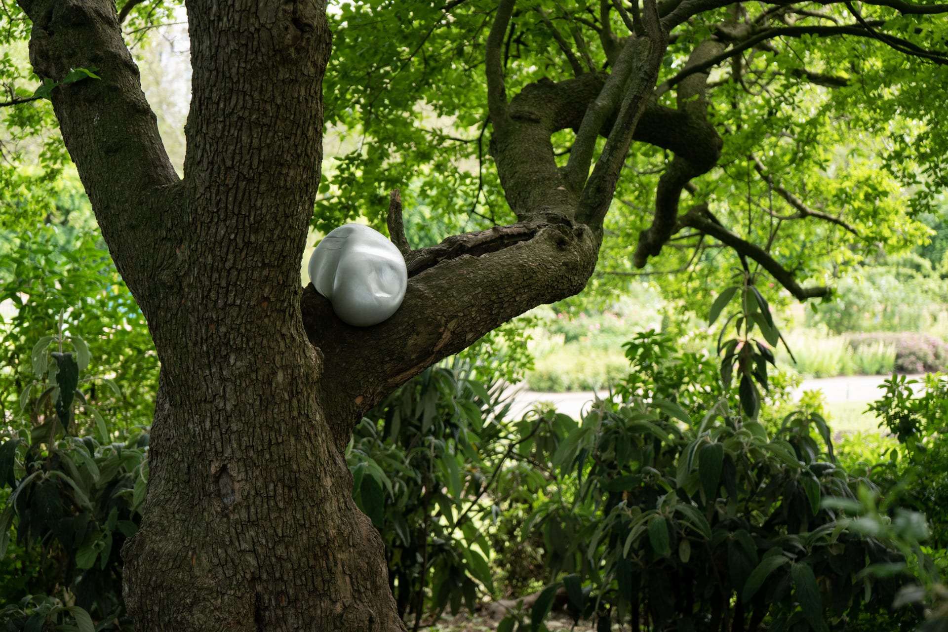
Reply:
[[[403,629],[344,459],[372,406],[510,318],[649,265],[697,271],[671,289],[706,301],[735,251],[742,281],[720,296],[768,321],[758,270],[825,297],[839,266],[923,239],[914,217],[948,178],[946,5],[189,0],[182,173],[130,52],[173,4],[18,6],[0,79],[38,166],[2,168],[5,201],[57,190],[68,152],[161,364],[122,549],[142,630]],[[342,150],[326,170],[324,127]],[[308,228],[358,219],[390,231],[410,278],[367,328],[299,277]],[[756,423],[752,364],[773,354],[748,330],[725,364]]]

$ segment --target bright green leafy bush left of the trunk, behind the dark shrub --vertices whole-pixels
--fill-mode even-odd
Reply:
[[[87,211],[79,208],[77,218]],[[92,353],[85,361],[103,377],[122,375],[126,384],[119,394],[108,382],[83,383],[86,403],[108,409],[126,428],[148,423],[154,411],[157,356],[144,316],[98,231],[35,226],[0,248],[0,270],[0,303],[9,306],[0,322],[0,346],[6,356],[0,370],[0,411],[9,417],[18,415],[21,407],[37,406],[44,388],[27,389],[34,374],[31,351],[44,334],[57,330],[65,314],[64,336],[83,341],[86,352]]]

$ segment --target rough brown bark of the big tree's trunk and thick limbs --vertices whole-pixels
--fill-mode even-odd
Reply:
[[[361,412],[412,375],[585,286],[633,139],[692,171],[714,164],[720,138],[700,113],[649,100],[667,29],[696,2],[646,2],[636,34],[610,41],[611,74],[539,81],[508,100],[501,44],[514,3],[502,0],[486,47],[491,151],[519,223],[407,253],[402,308],[357,329],[299,283],[321,160],[323,0],[188,3],[183,179],[113,2],[20,0],[39,76],[98,68],[99,81],[58,87],[52,101],[161,360],[145,518],[123,551],[138,630],[404,629],[342,449]],[[568,127],[574,154],[559,169],[550,135]]]

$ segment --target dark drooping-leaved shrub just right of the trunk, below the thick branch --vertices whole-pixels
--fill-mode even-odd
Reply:
[[[366,414],[347,451],[353,496],[386,544],[399,614],[473,611],[492,592],[481,524],[508,435],[502,387],[469,366],[433,367]],[[475,516],[480,518],[475,519]],[[417,619],[416,619],[417,620]]]

